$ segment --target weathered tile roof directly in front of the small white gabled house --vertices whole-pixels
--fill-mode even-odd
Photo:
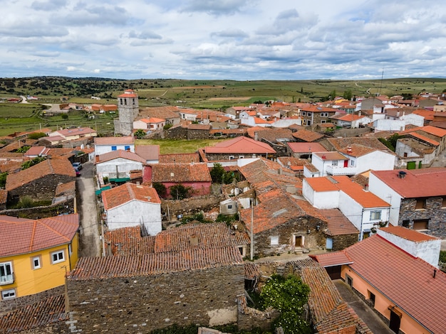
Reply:
[[[105,232],[105,243],[113,255],[135,256],[155,251],[155,237],[141,236],[141,227],[123,227]]]

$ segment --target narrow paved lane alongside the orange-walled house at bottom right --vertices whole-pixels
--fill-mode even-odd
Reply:
[[[345,284],[341,279],[336,279],[333,283],[339,293],[341,293],[343,301],[348,303],[348,306],[355,310],[359,318],[363,319],[374,334],[395,334],[393,333],[393,330],[390,330],[383,320],[381,320],[380,317],[378,317],[375,312],[361,300],[361,298],[356,296],[350,286]]]

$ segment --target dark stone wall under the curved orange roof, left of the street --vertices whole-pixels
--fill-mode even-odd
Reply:
[[[76,181],[76,176],[66,175],[46,175],[33,182],[26,183],[21,187],[12,189],[8,193],[8,201],[19,200],[24,196],[29,196],[33,200],[52,200],[54,192],[59,183]]]

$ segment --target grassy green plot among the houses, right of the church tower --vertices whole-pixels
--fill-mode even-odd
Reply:
[[[196,140],[175,140],[175,139],[137,139],[135,144],[138,145],[160,145],[160,154],[173,153],[195,153],[198,149],[206,146],[214,146],[220,141],[227,139],[196,139]]]

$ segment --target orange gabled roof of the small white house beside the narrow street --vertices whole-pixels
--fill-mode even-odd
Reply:
[[[116,208],[133,200],[161,204],[155,188],[135,183],[124,183],[118,187],[104,190],[101,195],[105,210]]]

